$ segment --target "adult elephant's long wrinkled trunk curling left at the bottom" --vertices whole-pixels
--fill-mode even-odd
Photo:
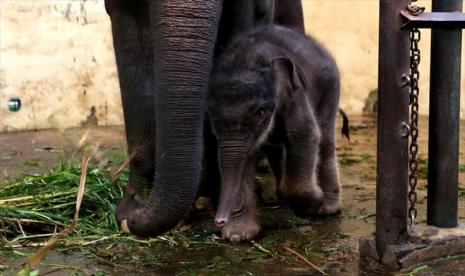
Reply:
[[[206,90],[221,1],[150,1],[154,38],[155,180],[147,201],[130,210],[138,236],[173,228],[190,210],[200,173]]]

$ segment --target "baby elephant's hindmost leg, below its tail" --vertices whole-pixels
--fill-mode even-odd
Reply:
[[[328,135],[322,135],[320,143],[320,160],[318,163],[318,182],[323,190],[323,204],[318,215],[330,216],[341,212],[339,176],[336,163],[334,128]]]

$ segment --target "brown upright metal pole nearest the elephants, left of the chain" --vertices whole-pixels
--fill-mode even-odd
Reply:
[[[376,178],[376,249],[407,240],[409,31],[402,31],[400,11],[409,0],[381,0],[378,70],[378,149]]]

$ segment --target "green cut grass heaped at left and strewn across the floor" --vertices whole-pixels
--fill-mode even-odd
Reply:
[[[365,156],[363,159],[368,160],[370,157]],[[111,165],[122,162],[124,156],[117,162],[112,159]],[[180,230],[178,227],[152,239],[138,239],[122,234],[115,221],[114,210],[122,197],[121,184],[127,183],[128,172],[124,170],[116,183],[111,177],[115,171],[89,164],[78,224],[60,239],[54,249],[59,254],[85,254],[86,259],[103,267],[105,271],[141,269],[183,275],[216,275],[225,270],[232,274],[249,274],[252,268],[260,273],[266,271],[263,266],[271,264],[277,269],[303,266],[300,259],[281,246],[292,239],[297,241],[291,242],[290,247],[299,249],[301,253],[304,249],[313,252],[311,258],[315,258],[318,264],[323,264],[321,258],[317,258],[320,255],[337,257],[352,254],[347,248],[340,248],[336,244],[347,239],[342,233],[328,233],[318,238],[315,234],[301,236],[299,231],[292,229],[286,233],[293,234],[286,237],[281,232],[277,234],[269,231],[258,242],[240,245],[222,240],[218,229],[202,224],[193,225],[188,230]],[[23,175],[17,180],[0,183],[0,257],[26,259],[32,253],[27,249],[22,252],[24,247],[41,247],[54,233],[71,223],[80,174],[80,165],[61,162],[44,174]],[[264,178],[258,180],[266,182]],[[288,220],[292,222],[293,228],[310,224],[308,219],[289,214]],[[208,219],[212,220],[210,217]],[[311,246],[315,242],[318,244]],[[321,242],[324,245],[320,245]],[[53,257],[41,263],[58,270],[72,270],[71,275],[88,272],[85,267],[73,266],[73,262],[56,263]],[[0,274],[3,271],[11,272],[12,269],[10,265],[0,266]],[[37,270],[25,275],[35,272]]]

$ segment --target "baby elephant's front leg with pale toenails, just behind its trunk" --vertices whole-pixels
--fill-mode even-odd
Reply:
[[[255,160],[251,157],[245,164],[239,197],[222,230],[223,238],[232,242],[253,240],[260,232],[255,203]]]

